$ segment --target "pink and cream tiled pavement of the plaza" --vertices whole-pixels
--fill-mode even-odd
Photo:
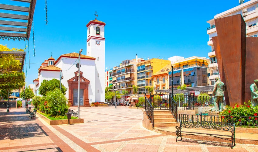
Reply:
[[[78,110],[77,107],[71,109]],[[48,125],[25,109],[0,109],[0,151],[257,151],[258,145],[184,139],[142,127],[142,112],[128,107],[80,107],[84,123]],[[258,138],[258,137],[257,137]]]

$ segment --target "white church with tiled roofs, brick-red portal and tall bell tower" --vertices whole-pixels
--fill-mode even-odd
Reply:
[[[34,93],[39,95],[39,86],[43,80],[55,78],[61,80],[61,83],[68,88],[66,91],[68,104],[78,106],[78,81],[80,81],[80,106],[90,106],[92,102],[104,102],[105,25],[96,18],[86,25],[87,55],[80,55],[80,80],[79,70],[76,67],[79,53],[62,54],[56,60],[51,56],[42,63],[39,77],[33,80]]]

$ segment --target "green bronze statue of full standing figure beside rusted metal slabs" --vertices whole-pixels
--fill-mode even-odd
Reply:
[[[215,95],[214,98],[214,110],[223,111],[223,96],[226,87],[223,82],[219,80],[219,78],[215,78],[216,82],[213,87],[212,95]]]

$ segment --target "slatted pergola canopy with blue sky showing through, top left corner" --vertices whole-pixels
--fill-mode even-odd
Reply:
[[[0,3],[0,39],[28,40],[36,0],[10,0]]]

